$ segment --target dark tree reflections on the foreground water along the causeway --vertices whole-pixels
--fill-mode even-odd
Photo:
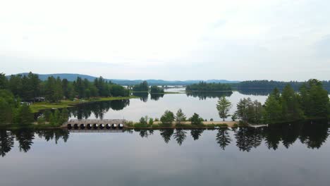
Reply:
[[[160,135],[167,144],[172,139],[179,146],[183,145],[190,133],[191,138],[200,140],[204,129],[161,129],[161,130],[126,130],[128,134],[135,132],[140,137],[147,139],[154,135]],[[0,130],[0,154],[6,156],[17,142],[21,152],[27,152],[32,148],[36,137],[45,141],[54,141],[57,144],[60,140],[67,142],[70,133],[68,130]],[[329,124],[327,121],[291,123],[287,125],[272,125],[268,128],[220,128],[214,130],[215,143],[223,150],[230,144],[236,145],[239,151],[251,151],[264,144],[268,149],[276,150],[281,144],[288,149],[294,143],[305,144],[309,149],[319,149],[325,144],[329,137]]]

